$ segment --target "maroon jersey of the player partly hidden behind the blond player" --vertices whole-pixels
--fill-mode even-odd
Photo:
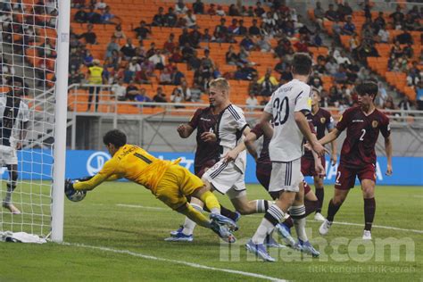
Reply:
[[[197,149],[195,151],[194,165],[198,170],[207,163],[219,161],[219,144],[217,142],[204,142],[201,139],[203,132],[215,131],[217,117],[217,115],[213,115],[211,108],[207,107],[195,111],[194,116],[188,122],[189,126],[193,129],[197,129]]]

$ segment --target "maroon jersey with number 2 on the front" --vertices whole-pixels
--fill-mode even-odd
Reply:
[[[360,107],[347,109],[336,124],[336,129],[347,129],[340,164],[352,169],[376,164],[375,145],[379,131],[384,137],[391,133],[389,119],[384,113],[375,109],[366,116]]]

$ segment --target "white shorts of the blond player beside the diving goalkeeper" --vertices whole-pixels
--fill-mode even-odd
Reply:
[[[234,162],[216,162],[210,170],[204,172],[203,178],[221,194],[228,194],[229,198],[236,198],[245,191],[244,173]]]

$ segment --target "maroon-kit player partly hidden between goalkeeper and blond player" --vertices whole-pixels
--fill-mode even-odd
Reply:
[[[199,178],[201,178],[204,172],[210,169],[216,162],[219,162],[220,159],[219,145],[216,135],[214,134],[217,120],[218,114],[214,112],[213,107],[202,108],[195,111],[188,123],[180,124],[177,129],[181,138],[190,137],[194,130],[197,129],[197,148],[195,151],[194,171],[195,175]],[[196,203],[191,203],[191,205],[197,211],[203,211],[203,207],[200,205]],[[220,205],[220,212],[231,220],[239,220],[240,214],[238,212],[230,211],[224,206]],[[171,231],[170,237],[165,240],[192,242],[194,239],[192,229],[187,226],[188,224],[184,224],[184,226],[181,226],[178,230]]]

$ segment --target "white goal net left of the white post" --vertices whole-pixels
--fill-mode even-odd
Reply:
[[[52,230],[58,1],[0,2],[1,232]]]

